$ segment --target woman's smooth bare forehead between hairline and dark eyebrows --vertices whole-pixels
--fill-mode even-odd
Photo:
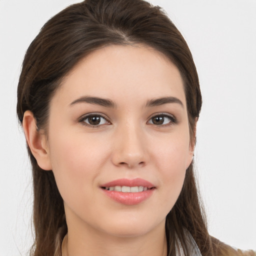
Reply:
[[[56,94],[66,102],[92,95],[121,103],[167,95],[185,105],[178,68],[145,45],[110,45],[92,51],[65,76]]]

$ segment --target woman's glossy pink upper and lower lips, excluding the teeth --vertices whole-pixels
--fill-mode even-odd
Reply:
[[[103,187],[106,186],[144,186],[148,189],[142,192],[119,192],[119,191],[110,191],[106,190]],[[141,178],[135,179],[116,179],[105,183],[100,186],[105,195],[111,199],[126,205],[135,205],[150,197],[155,190],[155,186],[148,182],[147,180]]]

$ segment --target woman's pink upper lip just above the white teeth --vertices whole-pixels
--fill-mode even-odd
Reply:
[[[131,186],[131,187],[144,186],[147,188],[155,187],[151,182],[142,178],[134,178],[134,179],[120,178],[120,179],[115,179],[101,185],[101,187],[109,187],[109,186]]]

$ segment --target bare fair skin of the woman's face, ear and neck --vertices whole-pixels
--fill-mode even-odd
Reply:
[[[81,96],[110,99],[115,107],[72,103]],[[146,105],[166,96],[181,103]],[[93,126],[88,113],[105,119]],[[153,116],[163,124],[154,124]],[[97,49],[53,95],[47,134],[36,131],[30,111],[23,127],[37,163],[52,169],[64,201],[68,234],[62,255],[166,255],[165,217],[193,155],[182,78],[173,63],[145,45]],[[137,177],[155,189],[136,205],[116,202],[100,188]]]

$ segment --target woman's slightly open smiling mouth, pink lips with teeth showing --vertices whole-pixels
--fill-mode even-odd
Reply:
[[[126,205],[134,205],[146,200],[155,190],[152,183],[141,178],[116,179],[100,187],[105,195]]]

